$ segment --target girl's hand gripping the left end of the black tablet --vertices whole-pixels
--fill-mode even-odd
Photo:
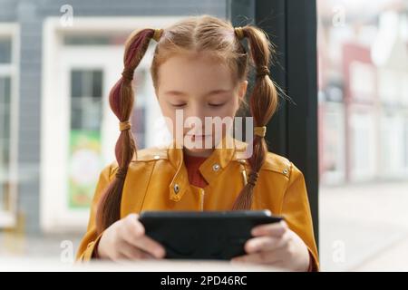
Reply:
[[[138,218],[138,215],[130,214],[106,228],[95,249],[96,256],[112,260],[164,257],[164,248],[145,236]]]

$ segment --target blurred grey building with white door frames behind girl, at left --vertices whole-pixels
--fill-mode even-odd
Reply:
[[[120,131],[108,94],[121,77],[128,35],[188,15],[227,17],[228,7],[0,0],[0,255],[53,255],[62,239],[77,243],[83,235],[99,173],[115,160]],[[151,83],[154,48],[152,41],[133,80],[139,149],[165,134]],[[47,253],[47,237],[58,233]]]

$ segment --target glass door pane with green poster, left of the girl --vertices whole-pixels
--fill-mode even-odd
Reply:
[[[102,70],[71,71],[69,206],[89,207],[101,169]]]

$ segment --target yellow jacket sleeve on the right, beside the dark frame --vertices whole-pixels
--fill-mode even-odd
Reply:
[[[302,238],[309,250],[311,259],[308,270],[318,271],[319,260],[305,178],[303,173],[292,162],[281,213],[287,222],[287,226]]]

